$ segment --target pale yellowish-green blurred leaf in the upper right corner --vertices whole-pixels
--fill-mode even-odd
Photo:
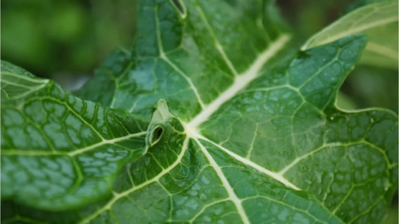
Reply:
[[[369,42],[360,63],[399,69],[399,1],[374,1],[353,10],[308,39],[302,50],[363,33]],[[364,3],[365,4],[365,3]]]

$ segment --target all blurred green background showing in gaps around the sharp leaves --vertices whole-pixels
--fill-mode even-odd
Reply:
[[[305,41],[356,0],[277,3]],[[0,0],[0,59],[54,79],[67,90],[79,88],[111,50],[130,48],[135,12],[135,0]],[[358,66],[341,88],[339,105],[385,107],[399,113],[398,84],[398,71]],[[399,223],[399,193],[384,223]]]

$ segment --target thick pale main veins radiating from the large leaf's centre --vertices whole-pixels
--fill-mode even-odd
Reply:
[[[233,186],[230,185],[227,177],[223,174],[223,170],[221,167],[217,164],[215,159],[211,156],[209,151],[205,148],[202,141],[207,141],[216,147],[218,147],[221,151],[227,153],[234,159],[240,161],[241,163],[252,167],[253,169],[259,171],[260,173],[264,173],[265,175],[268,175],[269,177],[272,177],[273,179],[279,181],[280,183],[283,183],[287,187],[290,187],[291,189],[295,190],[300,190],[298,187],[290,183],[288,180],[286,180],[282,174],[274,173],[272,171],[269,171],[268,169],[265,169],[264,167],[261,167],[260,165],[257,165],[256,163],[250,161],[249,159],[243,158],[232,151],[222,147],[221,145],[218,145],[217,143],[212,142],[211,140],[207,139],[201,133],[199,132],[199,126],[203,124],[203,122],[207,121],[212,114],[214,114],[219,107],[229,101],[233,96],[235,96],[238,92],[243,90],[251,81],[253,81],[257,76],[259,75],[259,71],[262,69],[263,65],[269,61],[274,55],[276,55],[283,47],[284,45],[290,40],[289,35],[281,35],[279,39],[277,39],[274,43],[272,43],[266,51],[261,53],[259,57],[254,61],[254,63],[249,67],[249,69],[240,75],[237,75],[235,78],[235,82],[233,85],[231,85],[227,90],[225,90],[219,97],[217,97],[213,102],[211,102],[208,105],[203,106],[203,110],[195,117],[193,118],[190,122],[184,123],[182,122],[185,130],[185,134],[187,135],[186,139],[184,140],[184,144],[182,146],[182,151],[179,153],[177,160],[170,165],[168,168],[164,169],[161,173],[156,175],[156,177],[145,181],[144,183],[137,185],[133,187],[132,189],[129,189],[127,191],[124,191],[122,193],[114,193],[114,197],[111,201],[109,201],[105,206],[103,206],[101,209],[97,210],[97,212],[93,213],[91,216],[87,217],[86,219],[82,220],[80,224],[83,223],[88,223],[90,220],[93,220],[95,217],[99,216],[102,212],[105,210],[111,210],[113,204],[119,200],[120,198],[124,196],[128,196],[130,193],[137,191],[139,189],[142,189],[151,183],[158,182],[160,178],[167,173],[169,173],[172,169],[178,166],[178,164],[181,163],[181,160],[183,156],[186,154],[186,151],[188,150],[188,144],[190,139],[194,140],[198,147],[199,150],[202,151],[202,153],[205,155],[206,159],[209,162],[209,165],[213,167],[215,170],[217,176],[219,177],[221,183],[223,184],[223,187],[226,189],[227,194],[228,194],[228,200],[231,200],[235,207],[237,208],[237,212],[243,220],[245,224],[250,223],[249,218],[243,208],[242,205],[242,200],[237,196],[237,194],[234,192]],[[221,51],[223,49],[220,49]],[[228,60],[227,57],[224,57],[225,60]],[[229,63],[229,61],[227,61]]]

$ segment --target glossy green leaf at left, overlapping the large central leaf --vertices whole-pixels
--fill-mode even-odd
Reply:
[[[148,124],[4,61],[0,90],[0,198],[47,210],[89,204],[148,149]]]

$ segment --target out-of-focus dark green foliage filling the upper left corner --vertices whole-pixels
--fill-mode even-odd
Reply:
[[[43,77],[92,73],[116,46],[130,45],[135,7],[134,0],[1,0],[0,58]]]

